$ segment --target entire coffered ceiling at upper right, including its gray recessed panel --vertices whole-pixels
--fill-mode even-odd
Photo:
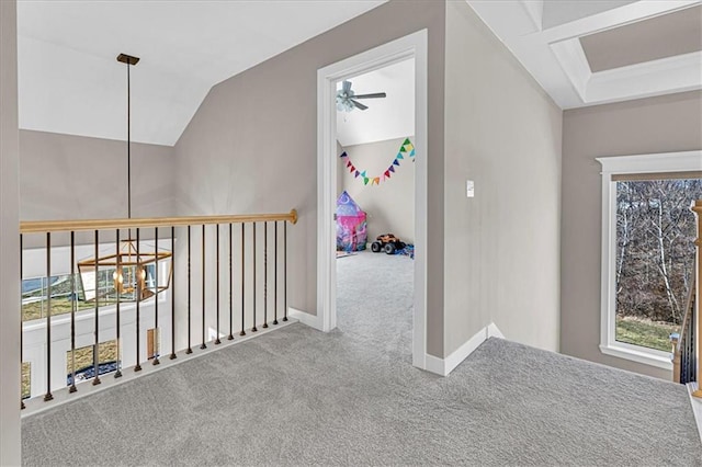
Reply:
[[[467,0],[563,109],[702,89],[700,0]]]

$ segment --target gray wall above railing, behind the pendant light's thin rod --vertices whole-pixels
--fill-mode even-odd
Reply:
[[[174,149],[132,144],[132,217],[172,216]],[[20,130],[22,220],[127,217],[126,143]]]

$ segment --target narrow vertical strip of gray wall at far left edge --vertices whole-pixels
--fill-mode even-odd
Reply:
[[[0,465],[20,465],[16,2],[0,1]]]

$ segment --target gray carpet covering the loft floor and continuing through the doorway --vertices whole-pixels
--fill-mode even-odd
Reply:
[[[344,308],[338,331],[293,324],[32,415],[24,463],[702,464],[682,386],[499,339],[446,378],[412,368],[411,318],[396,322],[410,310],[398,295],[411,260],[341,264],[355,258],[338,260],[340,272],[378,287],[339,294],[367,306]],[[396,301],[375,295],[387,297],[390,270]]]

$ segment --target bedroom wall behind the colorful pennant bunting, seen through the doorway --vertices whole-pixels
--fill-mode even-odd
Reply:
[[[408,136],[414,141],[414,136]],[[365,145],[347,146],[349,160],[358,169],[366,170],[369,175],[383,175],[393,163],[405,138]],[[363,184],[361,178],[354,178],[346,169],[342,159],[337,157],[342,170],[343,190],[365,210],[367,215],[369,242],[378,235],[392,232],[406,243],[415,242],[415,163],[409,157],[400,160],[390,179],[378,185]]]

